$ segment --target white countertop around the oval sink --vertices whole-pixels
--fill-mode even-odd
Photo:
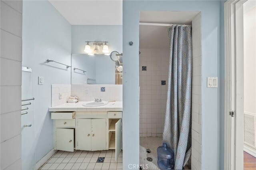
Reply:
[[[88,103],[89,101],[79,101],[78,103],[64,103],[62,105],[49,107],[49,111],[122,111],[123,102],[115,101],[109,102],[107,105],[99,107],[84,107],[83,103]]]

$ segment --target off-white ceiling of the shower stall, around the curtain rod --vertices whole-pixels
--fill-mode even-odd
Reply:
[[[199,12],[141,11],[140,22],[191,25]],[[168,26],[140,25],[140,48],[169,48]]]

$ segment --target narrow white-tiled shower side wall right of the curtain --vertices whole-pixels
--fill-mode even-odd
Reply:
[[[201,169],[202,156],[202,38],[201,14],[192,20],[192,169]]]

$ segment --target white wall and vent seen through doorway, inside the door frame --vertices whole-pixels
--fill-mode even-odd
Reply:
[[[256,1],[244,3],[244,169],[256,168]]]

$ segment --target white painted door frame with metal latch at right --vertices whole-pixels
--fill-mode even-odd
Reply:
[[[243,169],[244,156],[244,28],[243,4],[247,0],[224,3],[225,106],[224,169]],[[230,111],[235,111],[234,117]]]

